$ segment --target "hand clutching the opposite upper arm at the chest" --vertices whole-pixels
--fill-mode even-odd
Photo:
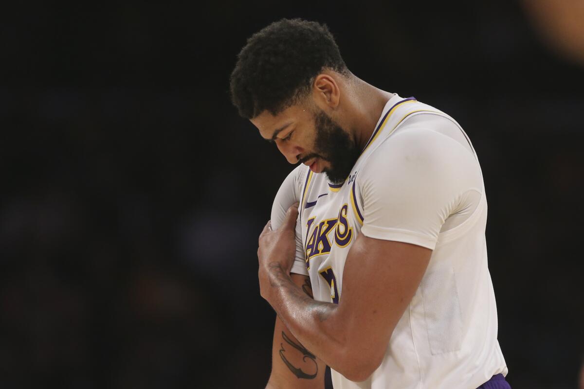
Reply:
[[[298,203],[288,208],[284,222],[277,230],[272,230],[272,224],[267,222],[259,236],[258,262],[260,294],[267,300],[269,295],[270,269],[280,269],[290,275],[290,269],[296,255],[296,219],[298,218]]]

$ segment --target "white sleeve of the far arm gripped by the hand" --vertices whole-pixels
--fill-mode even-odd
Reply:
[[[299,175],[302,171],[302,166],[303,165],[300,165],[291,171],[290,174],[288,174],[284,182],[280,185],[280,189],[274,198],[274,203],[272,205],[272,215],[270,217],[272,228],[274,230],[278,229],[281,223],[284,221],[284,218],[286,217],[286,211],[288,208],[290,208],[290,205],[294,204],[295,202],[300,202],[300,191],[302,188]],[[300,223],[297,222],[296,257],[294,258],[294,264],[292,265],[291,272],[308,275],[306,262],[304,261],[304,255],[305,254],[302,247],[302,227]]]

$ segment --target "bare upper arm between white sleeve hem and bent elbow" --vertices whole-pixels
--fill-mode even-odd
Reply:
[[[381,362],[430,261],[432,250],[363,234],[351,247],[339,302],[351,344]]]

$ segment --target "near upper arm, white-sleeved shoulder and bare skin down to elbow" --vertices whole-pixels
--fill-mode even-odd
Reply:
[[[444,221],[466,191],[482,192],[478,163],[460,143],[432,131],[408,132],[376,150],[357,177],[363,227],[347,254],[339,314],[347,344],[371,356],[363,360],[366,370],[383,359]]]

